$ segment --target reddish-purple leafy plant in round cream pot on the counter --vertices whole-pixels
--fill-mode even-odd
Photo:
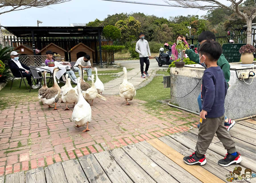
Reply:
[[[241,54],[242,64],[251,64],[253,63],[253,53],[255,52],[255,48],[251,44],[246,44],[241,46],[239,49],[239,53]]]

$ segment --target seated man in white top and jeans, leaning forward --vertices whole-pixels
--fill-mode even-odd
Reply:
[[[91,63],[90,63],[90,55],[85,55],[84,57],[80,57],[79,59],[77,59],[77,62],[74,65],[74,71],[76,71],[76,72],[78,71],[79,76],[81,77],[81,71],[78,68],[78,64],[81,64],[83,66],[84,71],[88,71],[87,80],[91,81],[92,80],[92,78],[91,78],[91,76],[92,76],[92,66],[91,66]]]

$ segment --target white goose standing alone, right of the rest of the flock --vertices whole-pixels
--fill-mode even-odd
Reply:
[[[126,100],[126,104],[124,105],[130,105],[127,101],[129,99],[130,101],[133,99],[133,97],[136,96],[136,90],[133,87],[133,84],[127,81],[127,69],[123,67],[123,82],[119,87],[119,95]]]

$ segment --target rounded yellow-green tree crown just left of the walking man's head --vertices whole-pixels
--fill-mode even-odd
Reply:
[[[125,20],[119,20],[115,26],[121,31],[122,42],[136,40],[141,31],[141,23],[132,16]]]

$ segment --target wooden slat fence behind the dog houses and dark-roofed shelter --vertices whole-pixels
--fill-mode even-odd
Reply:
[[[54,43],[57,46],[63,48],[64,50],[69,51],[71,48],[79,44],[80,42],[85,44],[86,46],[90,47],[92,50],[94,50],[94,59],[92,60],[93,63],[100,63],[100,52],[98,50],[99,41],[97,39],[90,39],[92,37],[70,37],[70,38],[35,38],[35,48],[38,50],[41,50],[45,46],[47,46],[50,43]],[[28,45],[32,47],[32,38],[17,38],[14,35],[4,35],[4,41],[6,43],[6,46],[12,46],[17,47],[20,44]],[[103,39],[101,41],[101,45],[109,45],[111,44],[111,41],[108,41],[106,39]],[[70,54],[65,54],[66,60],[70,61]],[[112,58],[112,61],[114,61],[114,57]],[[102,51],[102,62],[107,62],[107,52]]]

